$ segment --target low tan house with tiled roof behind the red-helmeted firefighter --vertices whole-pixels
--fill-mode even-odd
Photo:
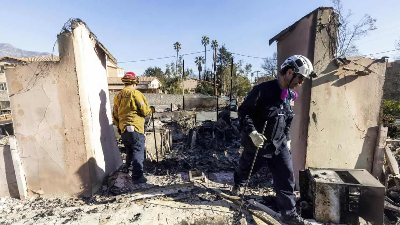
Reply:
[[[137,90],[142,93],[161,93],[161,82],[155,76],[139,76],[139,83],[136,86]],[[119,91],[124,88],[124,83],[121,77],[108,77],[108,90]]]

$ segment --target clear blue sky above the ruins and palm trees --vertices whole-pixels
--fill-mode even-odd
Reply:
[[[51,52],[56,34],[70,17],[81,18],[118,61],[174,56],[173,44],[182,44],[180,54],[204,50],[201,37],[207,35],[239,54],[267,57],[276,50],[268,40],[328,0],[308,1],[8,1],[2,5],[0,42],[17,48]],[[398,0],[343,1],[358,21],[365,13],[377,19],[377,30],[358,41],[362,54],[394,49],[400,39]],[[400,51],[398,51],[400,54]],[[196,54],[185,56],[185,67],[194,64]],[[393,52],[375,56],[392,56]],[[212,53],[207,54],[207,68]],[[235,56],[262,70],[262,60]],[[174,58],[121,63],[126,71],[141,75],[148,66],[160,66]]]

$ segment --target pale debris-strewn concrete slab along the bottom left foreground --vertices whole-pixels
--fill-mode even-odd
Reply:
[[[165,200],[136,200],[132,202],[106,203],[94,202],[76,205],[71,200],[58,201],[58,204],[42,209],[32,209],[35,202],[17,199],[0,200],[0,224],[232,224],[237,212],[226,200],[195,201],[183,203]],[[66,206],[72,203],[73,206]],[[51,204],[50,204],[51,205]],[[248,216],[247,224],[257,224]],[[246,224],[242,223],[242,224]]]

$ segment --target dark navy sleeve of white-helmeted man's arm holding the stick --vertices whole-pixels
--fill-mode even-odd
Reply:
[[[252,131],[256,131],[252,117],[254,118],[256,114],[257,101],[260,99],[260,96],[261,88],[260,85],[257,85],[250,91],[238,109],[240,126],[242,131],[246,132],[248,135],[252,133]]]

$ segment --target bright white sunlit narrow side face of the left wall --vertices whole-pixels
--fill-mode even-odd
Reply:
[[[72,31],[90,179],[97,183],[122,164],[112,127],[106,55],[84,24],[74,24]]]

